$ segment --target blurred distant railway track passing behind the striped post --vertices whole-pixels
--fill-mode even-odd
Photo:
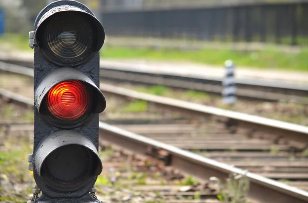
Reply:
[[[6,59],[0,60],[12,64],[33,67],[28,60]],[[200,77],[198,75],[160,73],[142,69],[142,65],[101,64],[100,77],[107,81],[129,82],[142,85],[164,85],[171,88],[194,90],[221,96],[222,79],[213,77]],[[288,83],[265,82],[249,79],[236,79],[237,97],[245,100],[268,102],[293,102],[308,104],[308,86],[299,86]]]

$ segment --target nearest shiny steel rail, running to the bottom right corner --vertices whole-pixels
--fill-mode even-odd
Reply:
[[[33,106],[33,100],[11,93],[9,91],[0,91],[2,97],[8,97],[17,104],[25,103]],[[255,173],[247,172],[242,169],[229,166],[200,156],[177,147],[164,144],[139,134],[128,132],[126,130],[114,127],[104,122],[99,122],[100,143],[108,142],[115,147],[120,147],[133,153],[147,155],[149,148],[162,149],[170,154],[170,166],[180,170],[185,174],[191,174],[200,181],[207,181],[209,177],[216,176],[224,179],[230,173],[236,173],[246,176],[250,181],[249,199],[253,202],[280,202],[280,203],[304,203],[308,201],[308,192],[287,186],[285,184],[273,181],[272,179],[262,177]]]

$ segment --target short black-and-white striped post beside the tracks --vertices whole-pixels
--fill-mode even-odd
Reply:
[[[224,104],[234,104],[236,102],[236,84],[235,84],[235,65],[233,61],[225,62],[226,75],[222,81],[222,97]]]

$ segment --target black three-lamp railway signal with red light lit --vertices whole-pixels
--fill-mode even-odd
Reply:
[[[104,28],[88,7],[62,0],[38,14],[29,37],[34,48],[29,169],[37,185],[32,202],[99,202],[92,192],[103,167],[98,133],[106,107],[99,89]]]

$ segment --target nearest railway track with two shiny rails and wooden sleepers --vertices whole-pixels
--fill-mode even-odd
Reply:
[[[32,71],[23,69],[15,72],[31,76]],[[156,157],[163,161],[164,166],[173,167],[183,174],[193,174],[200,182],[207,182],[212,176],[225,179],[233,172],[244,173],[239,168],[208,159],[213,158],[269,178],[280,181],[284,179],[290,185],[306,189],[305,151],[308,131],[304,126],[140,94],[106,84],[101,84],[101,89],[105,95],[122,100],[147,100],[149,104],[144,119],[141,119],[141,115],[127,112],[120,112],[117,119],[110,119],[103,114],[105,123],[101,122],[100,128],[101,144],[104,146],[111,145],[113,148],[126,149],[125,151],[130,153]],[[13,95],[2,92],[6,98]],[[170,112],[167,113],[166,110]],[[178,114],[174,114],[175,110]],[[162,111],[165,117],[157,118]],[[139,119],[132,120],[133,117]],[[133,132],[143,134],[143,137]],[[167,145],[168,143],[172,146]],[[251,199],[259,202],[307,200],[307,193],[302,190],[255,173],[248,172],[246,177],[251,183]],[[268,195],[264,196],[265,193]]]

